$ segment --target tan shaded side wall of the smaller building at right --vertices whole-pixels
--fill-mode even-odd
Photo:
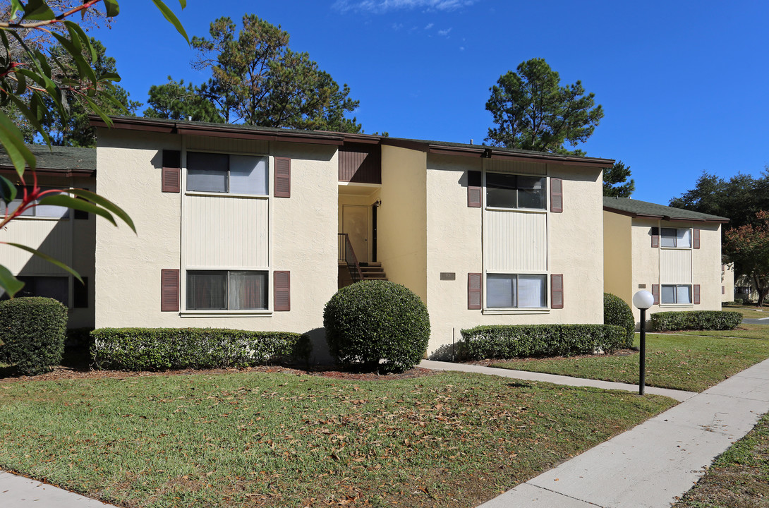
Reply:
[[[633,300],[631,217],[604,211],[604,292]]]

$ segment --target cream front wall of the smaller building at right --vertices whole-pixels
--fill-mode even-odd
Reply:
[[[700,248],[691,250],[691,284],[700,284],[700,304],[653,305],[647,315],[671,310],[721,310],[721,224],[701,222],[659,221],[636,217],[632,220],[633,283],[631,292],[641,289],[651,292],[652,284],[661,281],[661,255],[665,249],[651,247],[651,227],[696,227],[700,229]],[[683,268],[681,268],[683,269]],[[687,274],[681,274],[683,279]],[[645,287],[641,287],[645,284]],[[631,305],[636,321],[641,311]]]

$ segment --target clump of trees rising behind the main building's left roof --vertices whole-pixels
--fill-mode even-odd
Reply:
[[[358,107],[358,101],[349,98],[348,85],[340,87],[308,53],[292,51],[288,32],[279,25],[246,14],[238,31],[231,18],[223,17],[211,23],[209,35],[192,38],[192,46],[198,50],[193,65],[211,72],[208,82],[188,85],[184,91],[188,102],[175,108],[178,95],[165,92],[180,92],[181,85],[175,88],[169,78],[167,88],[155,88],[152,107],[145,115],[172,118],[185,111],[208,115],[212,106],[228,123],[361,131],[355,118],[346,116]],[[190,93],[195,95],[194,100]],[[195,118],[195,114],[188,116]]]

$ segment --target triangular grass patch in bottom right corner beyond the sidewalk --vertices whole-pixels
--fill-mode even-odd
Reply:
[[[718,457],[674,508],[758,508],[769,499],[769,415]]]

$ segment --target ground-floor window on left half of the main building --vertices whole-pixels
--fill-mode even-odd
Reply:
[[[266,310],[267,272],[187,272],[188,310]]]

